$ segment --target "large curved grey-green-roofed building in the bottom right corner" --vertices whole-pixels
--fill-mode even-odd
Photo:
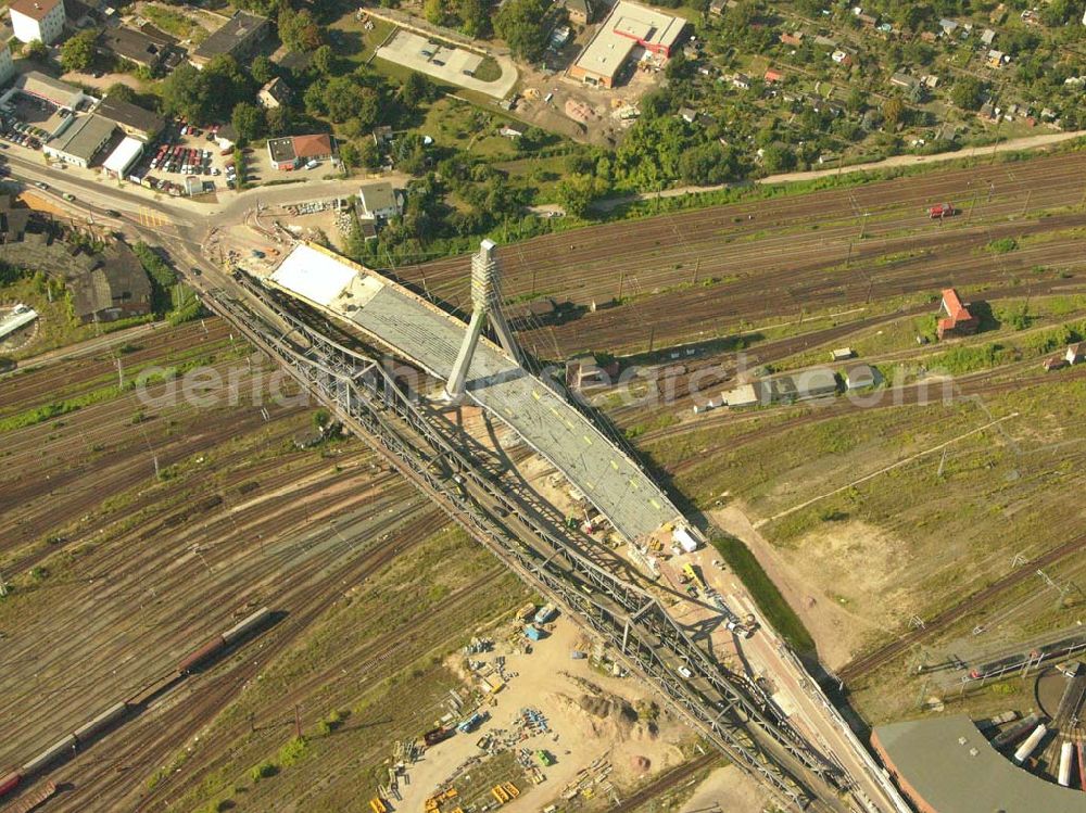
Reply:
[[[921,813],[1082,813],[1086,793],[1034,776],[964,715],[879,726],[871,745]]]

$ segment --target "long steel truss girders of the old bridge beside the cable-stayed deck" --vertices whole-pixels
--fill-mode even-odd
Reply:
[[[768,735],[807,770],[838,788],[847,787],[848,783],[839,770],[811,749],[786,720],[775,714],[774,707],[759,686],[712,661],[655,597],[572,550],[547,529],[533,522],[534,518],[505,490],[495,487],[481,475],[379,361],[337,344],[270,302],[260,289],[247,287],[277,317],[289,323],[291,330],[276,335],[262,328],[261,320],[247,309],[229,300],[216,297],[217,304],[236,321],[242,321],[258,345],[286,365],[329,407],[376,437],[417,481],[441,495],[446,509],[454,509],[451,511],[454,519],[473,536],[487,542],[491,550],[522,580],[576,611],[622,652],[639,672],[657,685],[683,716],[733,761],[760,777],[790,803],[804,808],[810,802],[806,791],[790,780],[792,777],[787,776],[787,772],[769,762],[767,755],[760,752],[744,731],[752,726]],[[307,346],[295,344],[296,336],[303,338]],[[526,545],[494,523],[457,488],[450,487],[449,481],[437,477],[429,461],[420,458],[419,450],[403,437],[390,420],[392,416],[395,416],[396,423],[405,423],[426,440],[431,447],[431,457],[442,456],[457,473],[470,478],[489,498],[521,519],[536,539],[551,550],[542,551]],[[602,598],[597,599],[596,593]],[[672,652],[692,673],[712,686],[723,698],[723,711],[714,708],[700,693],[675,676],[670,664],[661,659],[660,647]]]

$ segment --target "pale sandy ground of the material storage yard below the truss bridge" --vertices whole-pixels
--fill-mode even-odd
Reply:
[[[472,656],[492,661],[495,655],[504,655],[506,669],[518,675],[497,694],[495,706],[484,707],[490,712],[485,723],[470,734],[457,734],[429,749],[421,761],[411,766],[411,784],[401,784],[403,799],[396,802],[395,810],[421,810],[426,799],[456,772],[458,765],[480,753],[476,742],[482,735],[496,728],[509,728],[514,716],[529,706],[547,717],[551,731],[522,740],[520,746],[545,748],[556,762],[544,772],[546,780],[542,785],[521,788],[521,796],[516,801],[502,806],[508,813],[541,810],[559,796],[582,767],[605,755],[614,765],[610,778],[616,785],[633,783],[681,762],[682,753],[673,744],[687,739],[691,732],[666,715],[660,716],[658,733],[653,733],[642,722],[617,724],[611,717],[596,717],[580,708],[577,700],[585,689],[578,679],[599,687],[602,693],[597,697],[614,695],[630,703],[652,698],[652,693],[632,678],[605,676],[592,669],[586,659],[571,660],[569,651],[581,637],[582,633],[572,621],[559,617],[553,634],[535,644],[531,655],[510,652],[495,636],[494,652]],[[635,772],[635,758],[649,760],[647,774]]]

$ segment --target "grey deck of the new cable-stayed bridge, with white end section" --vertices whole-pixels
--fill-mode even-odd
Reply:
[[[391,280],[319,246],[299,244],[269,281],[349,320],[430,374],[449,378],[466,326]],[[561,471],[628,539],[681,519],[626,454],[496,344],[480,341],[467,392]]]

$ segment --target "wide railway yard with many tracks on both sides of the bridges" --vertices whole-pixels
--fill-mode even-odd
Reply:
[[[1072,686],[1081,704],[1083,681],[1057,668],[1083,658],[1086,365],[1041,363],[1086,340],[1084,178],[1081,148],[993,156],[497,249],[518,341],[543,364],[618,361],[621,383],[585,386],[584,404],[683,513],[753,555],[718,573],[710,548],[700,568],[720,585],[750,567],[768,576],[784,610],[755,589],[753,609],[806,630],[810,647],[791,644],[861,740],[894,721],[1007,710],[1081,737],[1061,693]],[[940,201],[956,214],[931,219]],[[466,317],[469,264],[390,275]],[[643,683],[576,607],[526,641],[515,613],[547,596],[372,439],[329,423],[213,302],[230,278],[209,271],[200,285],[216,315],[43,348],[0,378],[0,709],[17,721],[0,776],[58,746],[11,810],[47,783],[55,792],[35,808],[46,813],[780,803],[729,778],[735,766],[683,724],[678,695]],[[949,288],[981,329],[937,341]],[[522,315],[543,298],[555,315]],[[841,347],[854,358],[831,360]],[[721,405],[748,381],[854,361],[880,382]],[[535,488],[559,523],[571,515],[578,538],[577,501],[543,484],[554,469],[480,414],[442,420],[489,437],[517,488]],[[490,519],[513,528],[506,516]],[[580,536],[599,567],[642,561]],[[683,604],[668,584],[681,569],[654,552],[666,577],[652,595],[712,651],[719,630],[699,624],[714,590]],[[631,576],[639,589],[644,571]],[[729,669],[762,655],[757,635],[748,650],[724,636],[736,639]],[[471,650],[479,638],[490,643]],[[784,691],[758,669],[753,682]],[[453,734],[471,710],[480,721]],[[1053,782],[1060,754],[1045,740],[1023,764]],[[719,786],[732,796],[714,797]],[[451,789],[455,802],[430,806]],[[815,809],[845,809],[843,798]]]

